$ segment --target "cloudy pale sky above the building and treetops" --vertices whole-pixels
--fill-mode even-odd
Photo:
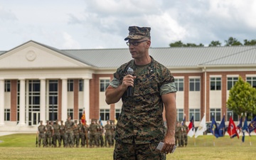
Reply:
[[[256,39],[255,0],[0,0],[0,50],[28,41],[58,49],[127,48],[129,26],[151,47]]]

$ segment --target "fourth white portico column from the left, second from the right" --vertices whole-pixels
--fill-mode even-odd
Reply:
[[[62,79],[61,120],[65,122],[67,118],[68,118],[68,80]]]

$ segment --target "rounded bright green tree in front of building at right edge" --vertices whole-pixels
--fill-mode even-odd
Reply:
[[[252,113],[256,114],[256,89],[248,82],[238,78],[238,82],[231,88],[227,101],[229,110],[237,114]]]

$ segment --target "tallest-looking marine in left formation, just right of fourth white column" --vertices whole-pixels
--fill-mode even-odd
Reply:
[[[71,117],[68,116],[68,120],[65,122],[65,134],[67,135],[67,143],[70,147],[74,147],[73,126],[76,126],[76,124],[75,122],[71,121]]]

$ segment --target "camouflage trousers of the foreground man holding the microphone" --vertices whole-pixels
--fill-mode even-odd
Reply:
[[[166,154],[162,154],[156,146],[159,143],[153,144],[127,144],[117,142],[114,145],[114,160],[164,160]]]

